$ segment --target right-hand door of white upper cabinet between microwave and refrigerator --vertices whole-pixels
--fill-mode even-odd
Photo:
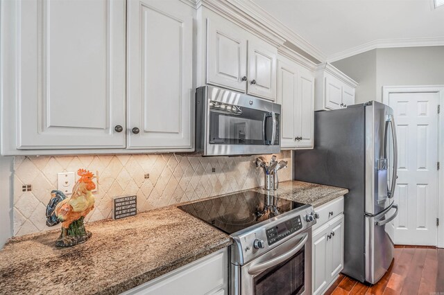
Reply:
[[[307,69],[298,71],[296,136],[297,147],[313,147],[314,141],[314,73]]]

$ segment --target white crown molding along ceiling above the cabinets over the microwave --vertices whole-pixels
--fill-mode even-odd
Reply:
[[[316,60],[326,60],[327,55],[251,0],[197,0],[196,8],[200,6],[224,15],[244,28],[252,30],[253,33],[266,37],[275,45],[282,46],[287,41],[298,46]]]

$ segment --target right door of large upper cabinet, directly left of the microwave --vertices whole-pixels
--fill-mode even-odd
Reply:
[[[128,1],[130,149],[192,147],[193,13],[181,1]]]

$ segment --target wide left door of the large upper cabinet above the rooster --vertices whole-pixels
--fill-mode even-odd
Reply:
[[[126,1],[15,5],[17,148],[125,147]]]

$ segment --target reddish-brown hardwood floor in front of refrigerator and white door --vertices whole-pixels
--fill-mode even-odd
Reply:
[[[444,295],[444,249],[395,246],[395,258],[375,285],[364,285],[343,274],[325,293]]]

